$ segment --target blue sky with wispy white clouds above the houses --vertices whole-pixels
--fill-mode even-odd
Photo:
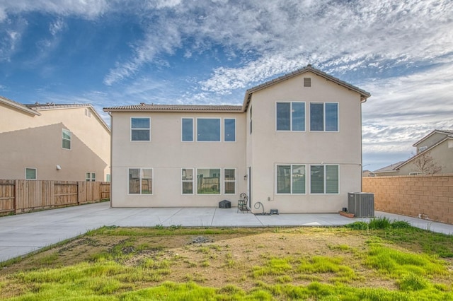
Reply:
[[[312,64],[367,90],[363,164],[453,129],[453,1],[0,0],[0,95],[240,105]]]

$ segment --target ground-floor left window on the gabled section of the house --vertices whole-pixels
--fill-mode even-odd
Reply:
[[[305,165],[277,165],[277,194],[305,194]]]

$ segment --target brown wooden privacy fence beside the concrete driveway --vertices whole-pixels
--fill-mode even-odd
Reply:
[[[23,213],[110,199],[109,182],[0,179],[0,214]]]

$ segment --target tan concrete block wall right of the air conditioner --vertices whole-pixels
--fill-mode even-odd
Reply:
[[[377,211],[453,224],[453,174],[364,177],[362,191]]]

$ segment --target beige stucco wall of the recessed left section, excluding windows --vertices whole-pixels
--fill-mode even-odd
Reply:
[[[193,112],[112,112],[112,196],[113,207],[218,206],[224,199],[236,206],[246,190],[245,114]],[[151,118],[151,141],[130,141],[131,117]],[[236,142],[182,142],[181,119],[220,117],[236,119]],[[196,132],[194,134],[195,138]],[[222,135],[223,136],[223,135]],[[195,139],[196,140],[196,139]],[[222,138],[223,141],[223,138]],[[128,168],[152,167],[152,195],[128,194]],[[236,168],[236,194],[183,195],[181,168]]]

